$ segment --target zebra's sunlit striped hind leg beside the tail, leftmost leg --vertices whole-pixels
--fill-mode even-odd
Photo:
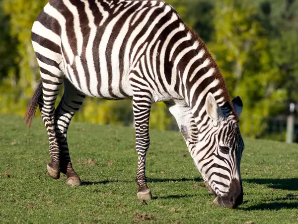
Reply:
[[[43,75],[43,73],[41,73]],[[48,76],[50,77],[50,76]],[[46,126],[49,138],[49,154],[51,162],[47,164],[47,171],[51,178],[60,178],[60,148],[55,131],[55,102],[62,87],[63,78],[44,76],[42,79],[42,96],[39,100],[39,110],[42,121]]]

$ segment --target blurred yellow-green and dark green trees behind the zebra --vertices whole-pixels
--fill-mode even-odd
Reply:
[[[243,135],[262,137],[267,117],[298,104],[298,0],[166,0],[207,43],[231,97],[241,96]],[[39,79],[30,40],[47,0],[0,0],[0,113],[23,115]],[[131,125],[130,101],[87,98],[74,119]],[[163,103],[150,127],[173,129]],[[274,137],[276,138],[276,137]]]

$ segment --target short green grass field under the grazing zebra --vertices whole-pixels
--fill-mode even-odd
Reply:
[[[0,223],[298,223],[298,145],[244,139],[244,203],[212,206],[180,133],[150,131],[148,185],[141,205],[135,183],[134,129],[71,124],[70,152],[83,186],[50,179],[48,139],[40,118],[0,116]]]

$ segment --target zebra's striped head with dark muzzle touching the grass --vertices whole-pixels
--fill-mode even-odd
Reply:
[[[244,149],[238,117],[242,112],[240,97],[219,107],[209,93],[205,102],[208,125],[200,133],[195,162],[206,186],[216,198],[214,204],[236,208],[243,201],[240,160]]]

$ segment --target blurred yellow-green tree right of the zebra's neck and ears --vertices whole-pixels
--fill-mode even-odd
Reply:
[[[286,99],[286,90],[278,88],[282,77],[258,20],[258,7],[250,0],[222,0],[215,3],[213,15],[215,35],[210,50],[231,96],[243,100],[243,134],[256,137],[265,128],[263,118],[278,112]]]

